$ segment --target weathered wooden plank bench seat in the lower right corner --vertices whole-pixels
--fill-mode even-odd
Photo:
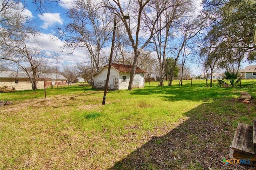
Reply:
[[[231,148],[238,152],[255,154],[255,147],[252,142],[252,126],[238,123]]]

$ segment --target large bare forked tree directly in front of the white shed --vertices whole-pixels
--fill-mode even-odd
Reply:
[[[146,47],[146,45],[148,45],[154,34],[165,28],[166,24],[168,24],[166,23],[162,25],[161,28],[155,30],[157,21],[160,19],[160,16],[166,9],[170,8],[170,6],[168,6],[167,0],[138,0],[129,2],[120,2],[119,0],[106,0],[104,5],[112,13],[118,16],[120,20],[122,20],[132,45],[134,60],[132,63],[132,71],[130,74],[130,81],[128,86],[128,90],[132,90],[134,73],[140,52],[142,49],[144,49],[144,47]],[[130,21],[126,21],[124,19],[127,14],[130,16]],[[132,23],[132,26],[130,26],[130,23]]]

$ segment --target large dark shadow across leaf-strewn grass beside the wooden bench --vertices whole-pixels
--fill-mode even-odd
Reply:
[[[154,136],[109,170],[249,169],[222,163],[223,158],[228,159],[234,135],[232,121],[242,114],[234,110],[241,105],[230,97],[203,103],[185,113],[186,121],[164,136]],[[224,111],[220,106],[229,109]]]

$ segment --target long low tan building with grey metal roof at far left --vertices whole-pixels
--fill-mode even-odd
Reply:
[[[49,87],[56,85],[56,74],[50,73],[38,73],[39,77],[37,80],[37,88],[44,89],[44,87]],[[46,83],[44,83],[44,79]],[[57,74],[58,85],[66,84],[66,78]],[[15,88],[16,90],[32,90],[31,81],[25,71],[0,71],[0,87],[8,86],[10,88]]]

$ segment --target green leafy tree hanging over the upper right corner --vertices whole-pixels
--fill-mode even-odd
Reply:
[[[202,15],[211,23],[207,36],[220,46],[222,67],[238,72],[242,61],[256,61],[256,46],[252,42],[256,2],[205,0],[203,5]]]

